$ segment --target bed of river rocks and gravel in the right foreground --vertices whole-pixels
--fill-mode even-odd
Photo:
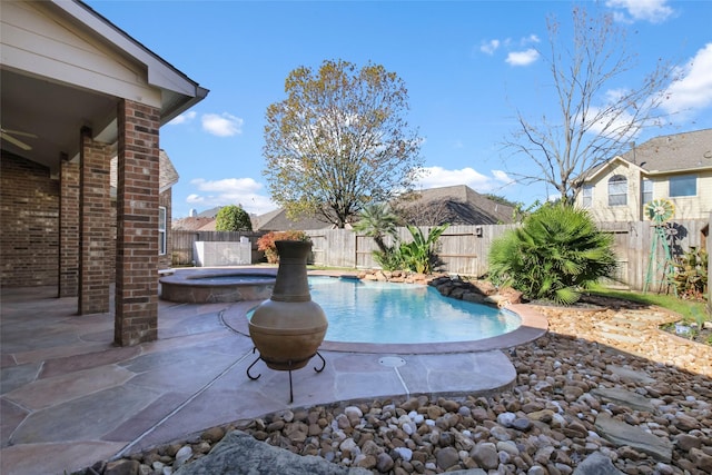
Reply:
[[[86,473],[207,473],[191,472],[190,462],[234,429],[339,471],[374,474],[566,475],[601,455],[625,474],[712,473],[710,346],[661,331],[675,316],[659,308],[599,301],[540,309],[550,333],[508,350],[517,372],[508,392],[295,408]]]

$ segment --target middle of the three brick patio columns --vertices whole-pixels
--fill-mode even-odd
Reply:
[[[81,130],[79,191],[79,315],[109,311],[111,285],[111,147]]]

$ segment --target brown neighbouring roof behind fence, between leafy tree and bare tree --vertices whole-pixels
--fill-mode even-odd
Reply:
[[[416,221],[417,215],[427,215],[437,221],[427,225],[508,224],[513,222],[515,211],[514,207],[494,201],[465,185],[414,191],[400,197],[394,206],[416,215]]]

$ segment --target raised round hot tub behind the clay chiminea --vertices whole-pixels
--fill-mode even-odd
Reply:
[[[160,297],[180,304],[266,300],[277,269],[178,269],[161,277]]]

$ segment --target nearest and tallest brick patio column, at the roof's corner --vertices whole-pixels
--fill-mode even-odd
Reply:
[[[120,346],[158,338],[159,127],[159,109],[119,102],[113,340]]]

